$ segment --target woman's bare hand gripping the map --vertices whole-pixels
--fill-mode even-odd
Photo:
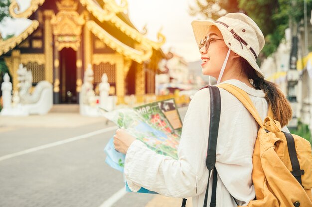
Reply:
[[[126,130],[118,129],[114,135],[115,149],[123,154],[126,154],[129,146],[134,142],[136,138],[129,135]]]

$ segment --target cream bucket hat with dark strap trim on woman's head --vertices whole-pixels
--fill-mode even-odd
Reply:
[[[257,75],[264,78],[256,59],[264,46],[264,36],[257,24],[243,13],[228,13],[217,21],[195,20],[192,27],[197,45],[204,39],[211,26],[216,26],[225,44],[233,52],[243,57],[256,70]]]

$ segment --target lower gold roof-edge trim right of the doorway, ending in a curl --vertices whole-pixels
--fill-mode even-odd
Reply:
[[[101,41],[103,41],[106,45],[108,45],[119,54],[126,56],[127,58],[135,60],[138,63],[142,63],[152,56],[153,49],[149,45],[141,44],[140,46],[142,50],[135,50],[111,36],[94,21],[88,21],[86,25],[91,30],[91,32]]]

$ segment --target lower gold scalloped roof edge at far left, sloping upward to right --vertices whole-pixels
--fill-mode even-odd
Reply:
[[[30,34],[33,33],[34,30],[36,30],[39,26],[39,22],[36,20],[33,20],[31,25],[23,31],[20,35],[11,37],[7,40],[0,40],[0,56],[2,54],[7,53],[9,50],[13,49],[21,43],[23,40],[25,40]]]

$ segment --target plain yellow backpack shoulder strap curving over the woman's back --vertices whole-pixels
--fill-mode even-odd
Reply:
[[[231,85],[231,84],[220,84],[218,85],[219,88],[223,88],[224,90],[230,92],[234,95],[242,104],[246,107],[246,109],[251,113],[251,115],[255,118],[257,123],[262,127],[263,122],[259,116],[257,109],[255,108],[254,104],[250,100],[248,94],[243,91],[242,89]]]

